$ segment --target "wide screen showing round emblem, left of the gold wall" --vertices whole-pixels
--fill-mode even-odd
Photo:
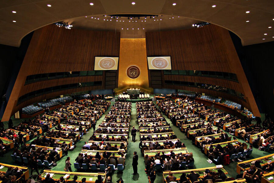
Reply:
[[[94,70],[117,70],[119,57],[96,56]]]

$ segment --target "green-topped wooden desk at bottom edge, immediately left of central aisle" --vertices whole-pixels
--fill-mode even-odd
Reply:
[[[86,183],[95,183],[97,180],[97,176],[101,175],[104,179],[103,182],[106,181],[106,174],[105,173],[86,173],[86,172],[66,172],[66,171],[53,171],[53,170],[44,170],[44,173],[41,175],[42,180],[45,180],[45,176],[47,174],[53,174],[52,178],[54,181],[58,181],[60,177],[64,177],[65,175],[70,175],[67,179],[65,179],[66,182],[72,181],[73,177],[75,175],[78,176],[77,182],[81,182],[82,178],[86,178]]]

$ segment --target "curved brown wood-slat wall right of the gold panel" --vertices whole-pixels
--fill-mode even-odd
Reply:
[[[246,87],[244,71],[242,68],[238,69],[241,63],[237,53],[235,54],[235,52],[230,50],[232,47],[234,48],[234,45],[228,30],[213,24],[188,30],[146,32],[147,56],[171,56],[172,70],[228,72],[236,74],[239,80],[239,82],[234,82],[210,77],[163,75],[162,71],[162,88],[172,88],[171,85],[165,85],[164,80],[190,81],[224,86],[239,91],[244,95],[248,94],[248,97],[245,98],[247,102],[223,92],[213,92],[205,89],[203,91],[206,91],[204,93],[214,94],[238,102],[250,109],[254,115],[260,116],[258,107],[254,103],[253,95],[249,95],[251,89],[249,86]],[[243,83],[245,87],[243,87]],[[152,87],[150,74],[149,84]],[[176,89],[186,88],[191,89],[191,91],[201,91],[199,88],[194,87],[176,87]]]

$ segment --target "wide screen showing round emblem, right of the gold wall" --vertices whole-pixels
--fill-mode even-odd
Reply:
[[[150,70],[171,70],[170,56],[147,57]]]

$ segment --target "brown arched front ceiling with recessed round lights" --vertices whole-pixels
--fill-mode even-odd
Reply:
[[[90,5],[91,2],[93,5]],[[274,41],[272,0],[135,0],[135,5],[132,5],[132,2],[133,0],[1,1],[0,44],[19,46],[26,34],[62,20],[137,13],[182,16],[197,22],[213,23],[237,34],[243,45]],[[172,5],[173,3],[176,5]],[[51,7],[48,7],[48,4]],[[216,7],[213,8],[213,5]],[[246,13],[247,11],[250,13]],[[16,22],[12,22],[13,20]],[[173,23],[170,21],[171,25]]]

